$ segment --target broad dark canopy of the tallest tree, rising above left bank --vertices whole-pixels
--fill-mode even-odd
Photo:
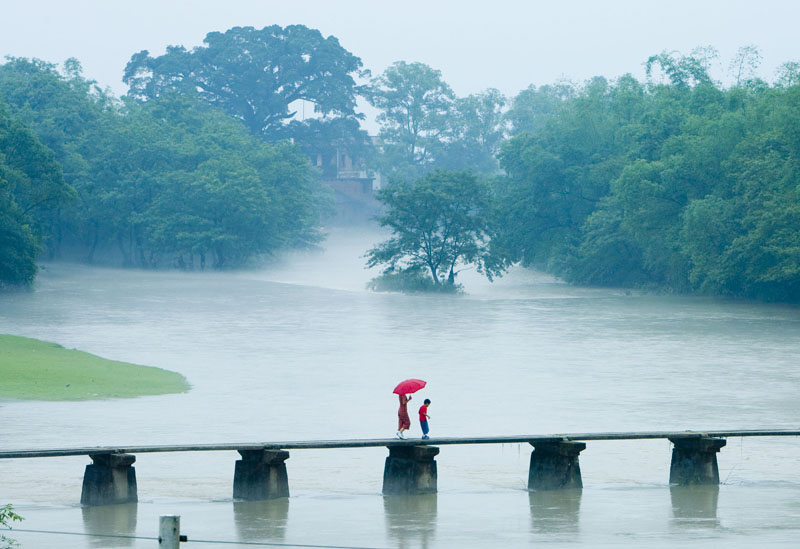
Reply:
[[[167,90],[196,92],[270,140],[289,137],[283,130],[301,99],[322,116],[356,116],[353,76],[363,74],[361,60],[333,36],[272,25],[211,32],[203,42],[192,50],[170,46],[158,57],[147,50],[133,55],[123,77],[130,94],[152,99]]]

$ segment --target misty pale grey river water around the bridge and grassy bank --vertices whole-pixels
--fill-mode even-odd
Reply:
[[[380,294],[363,253],[324,252],[228,273],[46,265],[0,296],[0,333],[180,372],[186,394],[0,402],[0,446],[384,438],[401,379],[428,381],[431,435],[797,428],[800,309],[571,287],[514,269],[464,296]],[[411,402],[414,407],[418,400]],[[413,418],[413,415],[412,415]],[[412,437],[419,425],[412,422]],[[20,528],[359,547],[791,545],[800,441],[728,439],[717,490],[670,489],[667,441],[593,442],[584,490],[527,492],[530,446],[443,446],[439,493],[383,498],[386,450],[293,450],[291,497],[234,503],[235,452],[142,454],[139,503],[81,509],[87,457],[0,460]],[[150,540],[13,532],[25,548],[154,547]],[[199,546],[199,545],[198,545]],[[213,544],[203,544],[213,547]]]

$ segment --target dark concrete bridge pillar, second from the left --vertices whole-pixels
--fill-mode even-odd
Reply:
[[[233,499],[261,500],[289,497],[286,450],[239,450],[233,474]]]

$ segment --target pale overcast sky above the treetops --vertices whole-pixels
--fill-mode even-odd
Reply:
[[[798,22],[795,0],[0,0],[0,56],[76,57],[86,77],[121,95],[122,71],[140,50],[300,23],[339,38],[373,74],[421,61],[458,95],[495,87],[513,96],[559,78],[643,77],[648,56],[705,45],[720,51],[723,80],[740,46],[758,46],[771,80],[800,60]]]

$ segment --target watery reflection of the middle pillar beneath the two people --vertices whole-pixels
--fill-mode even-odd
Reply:
[[[384,496],[386,528],[398,547],[433,546],[436,535],[436,494]]]

